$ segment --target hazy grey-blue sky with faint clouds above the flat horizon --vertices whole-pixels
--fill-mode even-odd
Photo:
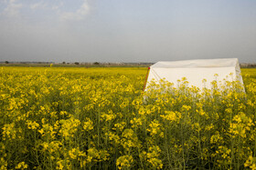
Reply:
[[[256,63],[255,0],[0,0],[0,61]]]

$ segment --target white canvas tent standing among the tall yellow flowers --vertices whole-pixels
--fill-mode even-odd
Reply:
[[[144,87],[149,85],[152,80],[160,84],[160,79],[164,78],[177,87],[177,80],[181,80],[183,77],[187,78],[188,85],[194,85],[200,89],[203,87],[211,88],[210,82],[217,80],[221,83],[223,79],[228,81],[239,80],[243,85],[239,60],[237,58],[225,58],[157,62],[155,65],[148,67]],[[204,84],[202,83],[203,79],[207,80]]]

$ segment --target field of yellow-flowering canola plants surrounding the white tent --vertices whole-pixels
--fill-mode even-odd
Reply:
[[[256,169],[256,69],[246,93],[146,70],[0,67],[0,169]]]

